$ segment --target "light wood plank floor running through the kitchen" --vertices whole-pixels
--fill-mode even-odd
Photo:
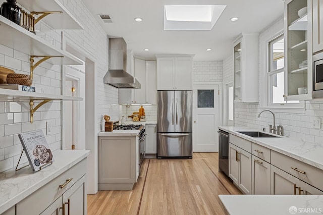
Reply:
[[[87,195],[91,214],[224,214],[219,194],[241,194],[218,172],[218,153],[145,159],[133,190]]]

